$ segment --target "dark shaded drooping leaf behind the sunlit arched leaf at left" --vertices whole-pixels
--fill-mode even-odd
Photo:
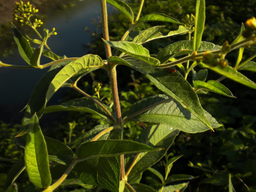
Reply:
[[[16,137],[24,135],[28,130],[28,124],[30,123],[30,118],[36,113],[38,118],[43,115],[44,107],[46,104],[45,97],[48,87],[55,77],[55,75],[60,71],[63,66],[70,63],[72,60],[64,60],[52,65],[48,72],[42,76],[40,81],[36,84],[32,94],[30,95],[28,106],[26,112],[22,119],[22,128],[20,129],[19,135]]]

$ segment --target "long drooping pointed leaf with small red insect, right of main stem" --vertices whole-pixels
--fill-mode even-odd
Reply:
[[[170,73],[164,68],[151,68],[147,64],[134,59],[123,60],[118,57],[110,57],[109,61],[124,64],[139,71],[158,89],[178,101],[183,108],[193,113],[207,127],[212,129],[196,92],[180,72]]]

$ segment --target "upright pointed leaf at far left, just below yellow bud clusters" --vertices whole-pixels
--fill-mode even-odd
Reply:
[[[25,37],[23,37],[20,31],[12,24],[12,33],[16,44],[18,45],[20,56],[30,65],[30,57],[33,51]]]

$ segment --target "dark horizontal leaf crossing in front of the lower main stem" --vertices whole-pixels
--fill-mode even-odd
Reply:
[[[161,149],[152,148],[148,145],[130,140],[96,140],[80,145],[76,151],[76,156],[82,159],[93,156],[108,157],[159,150]]]

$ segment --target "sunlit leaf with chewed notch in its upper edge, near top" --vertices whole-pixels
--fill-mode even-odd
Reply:
[[[162,28],[164,28],[164,26],[154,26],[146,30],[129,33],[129,35],[125,38],[125,41],[132,41],[137,44],[143,44],[154,39],[170,37],[174,35],[183,35],[191,31],[189,28],[180,25],[176,31],[170,31],[167,35],[164,35],[160,32]]]

